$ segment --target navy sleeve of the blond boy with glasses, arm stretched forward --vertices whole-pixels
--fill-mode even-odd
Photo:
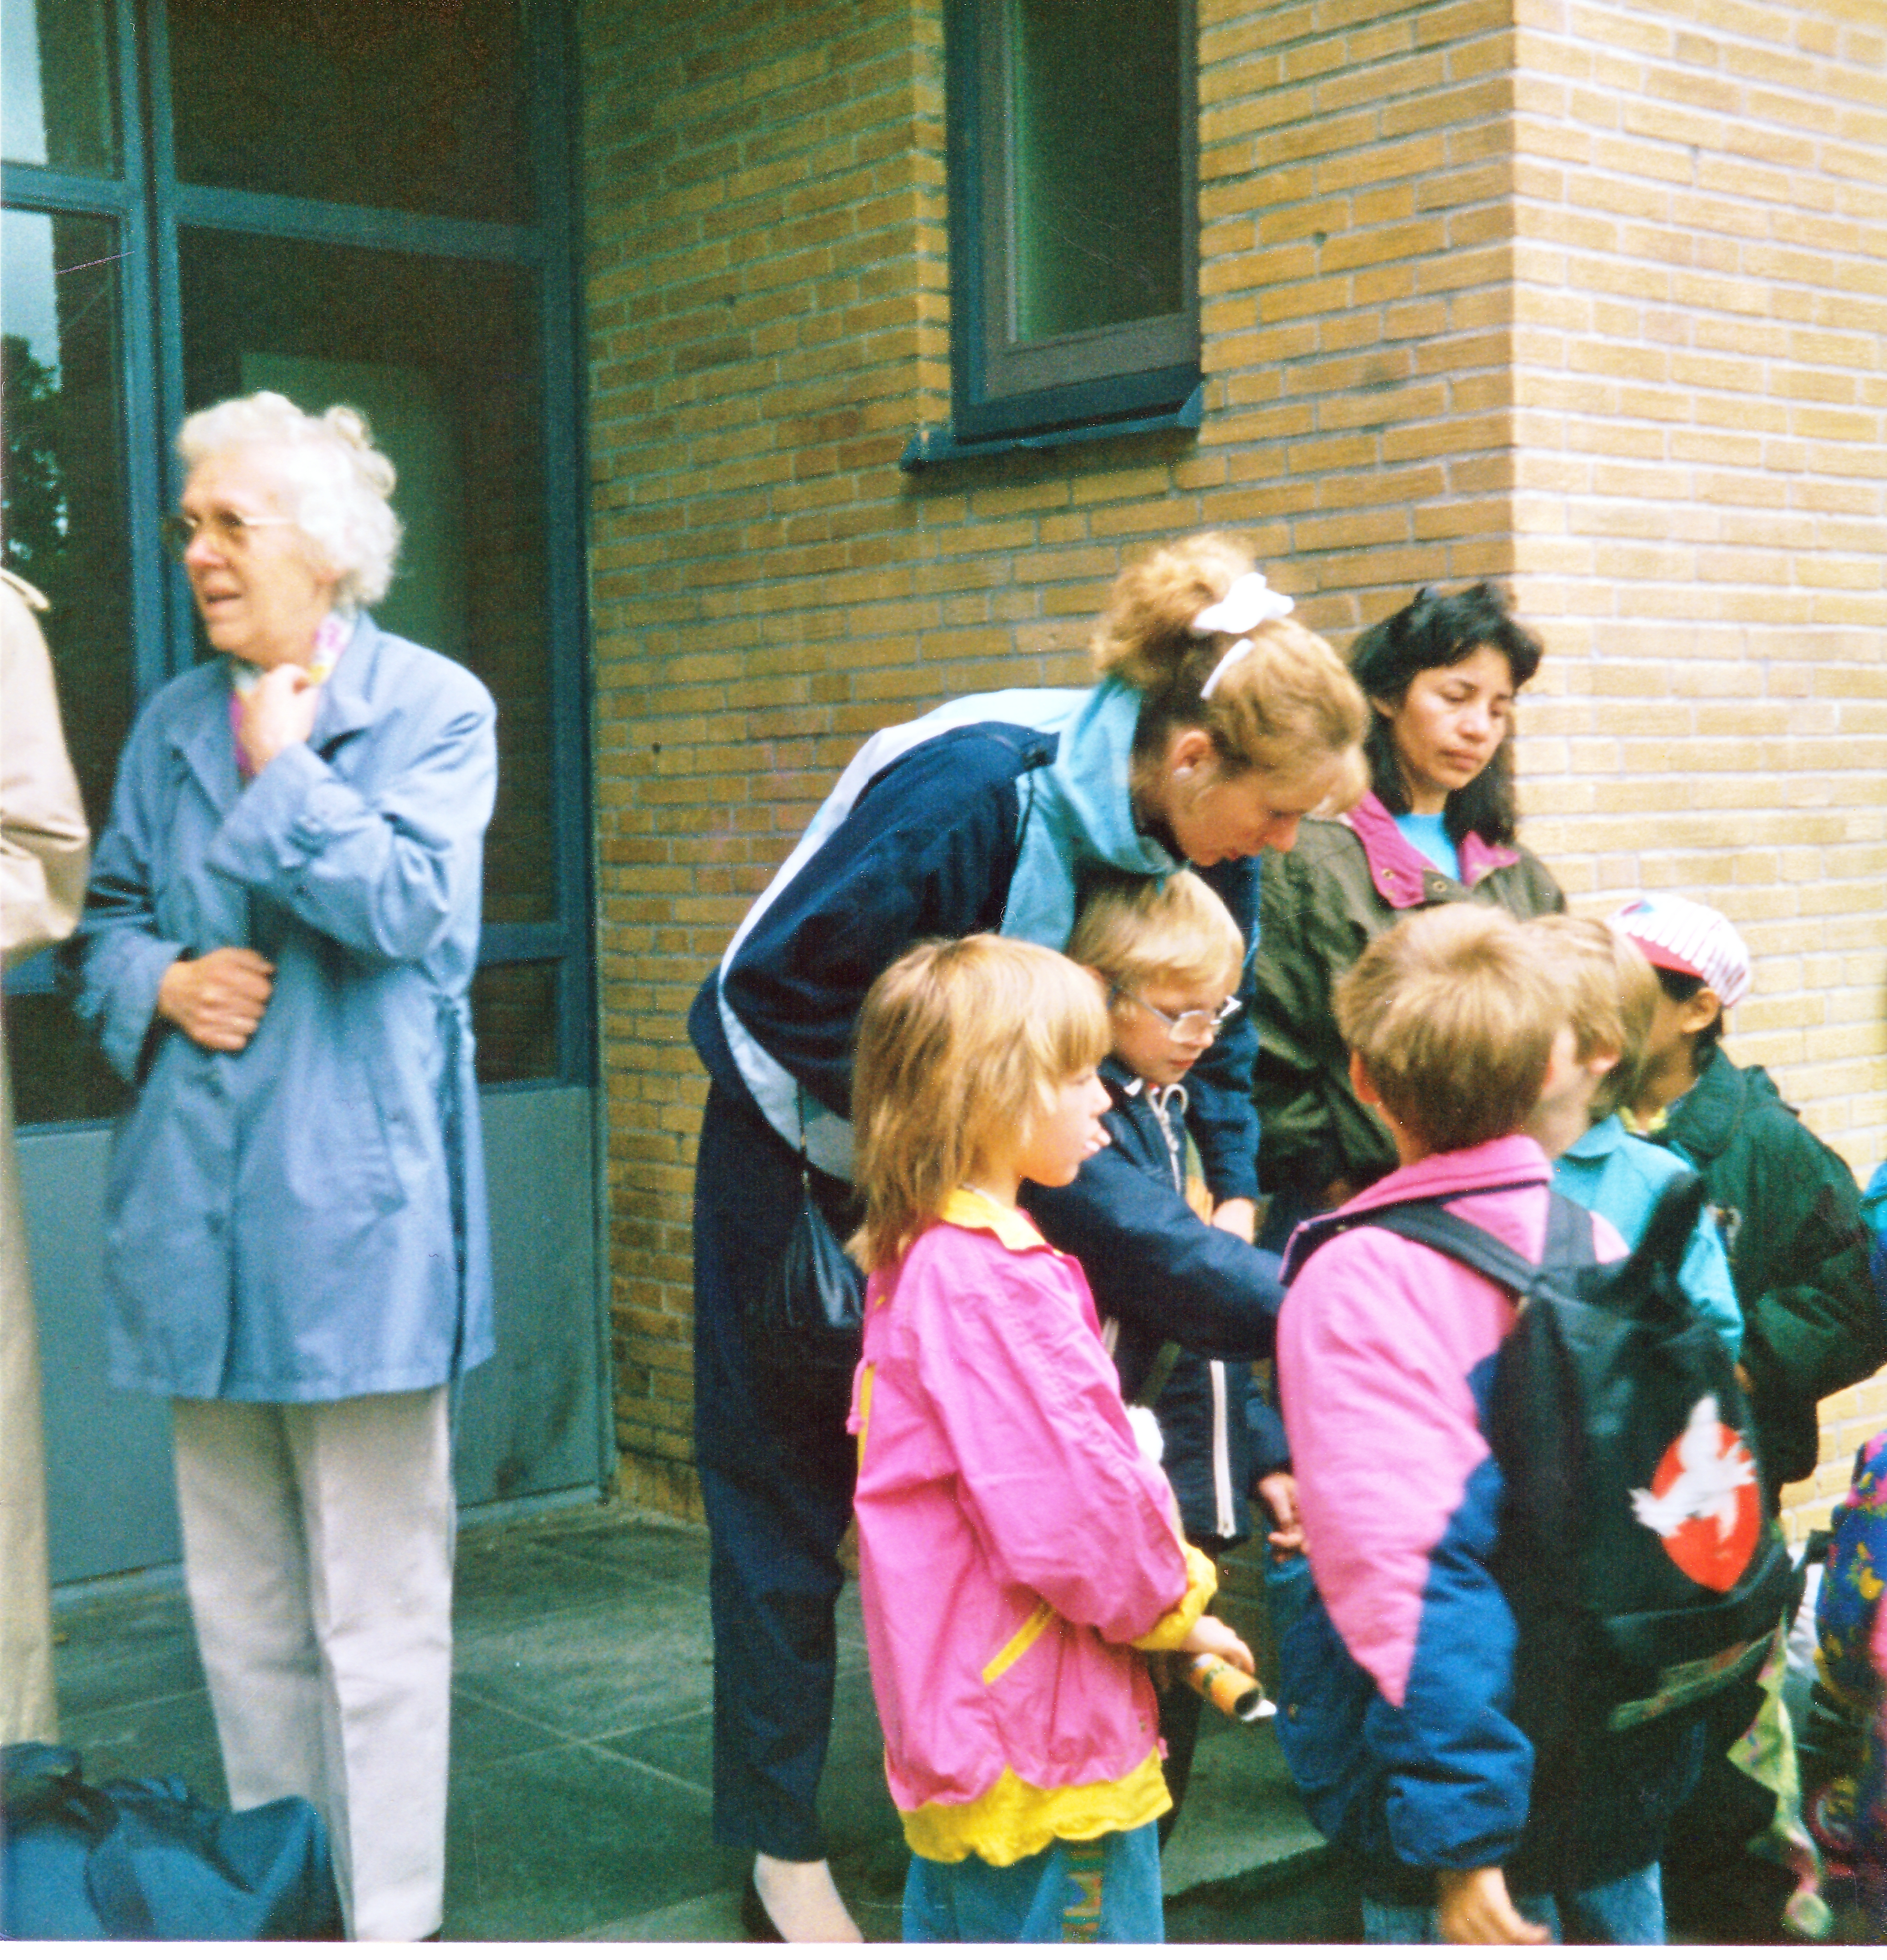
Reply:
[[[1115,1119],[1107,1119],[1115,1131]],[[1023,1207],[1074,1252],[1103,1315],[1195,1354],[1262,1360],[1278,1333],[1278,1256],[1207,1225],[1162,1178],[1105,1149],[1074,1184],[1031,1184]]]

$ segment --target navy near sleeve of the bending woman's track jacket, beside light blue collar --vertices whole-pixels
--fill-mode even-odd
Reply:
[[[850,1115],[852,1031],[886,966],[919,939],[1001,925],[1017,778],[1046,755],[1035,731],[984,725],[911,749],[866,784],[741,943],[727,1004],[827,1109]]]

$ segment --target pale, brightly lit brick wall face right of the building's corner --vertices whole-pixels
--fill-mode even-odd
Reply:
[[[1515,584],[1532,845],[1707,898],[1730,1053],[1865,1176],[1887,1125],[1887,12],[1523,4]],[[1801,1533],[1887,1425],[1824,1411]]]

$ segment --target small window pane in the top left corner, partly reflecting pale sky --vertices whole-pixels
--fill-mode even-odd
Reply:
[[[110,0],[0,0],[0,151],[55,171],[114,171]]]

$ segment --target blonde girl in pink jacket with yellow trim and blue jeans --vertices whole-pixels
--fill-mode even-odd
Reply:
[[[1135,1445],[1082,1268],[1015,1194],[1103,1147],[1095,980],[919,947],[858,1023],[858,1576],[905,1940],[1158,1940],[1168,1807],[1135,1648],[1250,1652]]]

